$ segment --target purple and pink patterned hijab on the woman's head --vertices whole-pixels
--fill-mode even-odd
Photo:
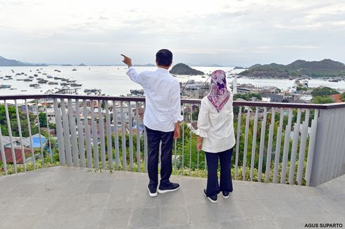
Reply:
[[[230,91],[227,90],[227,80],[223,70],[215,70],[211,74],[210,93],[208,100],[215,106],[218,112],[222,110],[230,98]]]

